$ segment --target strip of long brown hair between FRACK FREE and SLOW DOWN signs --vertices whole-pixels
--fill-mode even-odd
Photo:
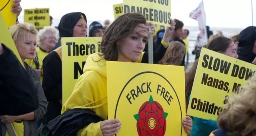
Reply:
[[[191,94],[194,79],[196,76],[196,68],[198,65],[198,59],[194,61],[191,68],[185,73],[185,95],[186,95],[186,111],[188,110],[188,97]]]

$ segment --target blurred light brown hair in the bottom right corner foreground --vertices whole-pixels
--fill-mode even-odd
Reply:
[[[226,136],[256,136],[256,74],[243,92],[232,99],[217,119],[218,126],[226,131]]]

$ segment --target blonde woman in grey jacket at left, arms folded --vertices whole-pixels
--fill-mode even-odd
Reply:
[[[36,35],[38,31],[36,30],[35,26],[28,23],[11,26],[9,31],[17,47],[18,53],[20,54],[20,58],[22,62],[24,62],[26,72],[28,72],[30,80],[36,88],[39,108],[34,112],[20,116],[1,116],[1,122],[3,124],[12,123],[18,136],[38,136],[36,120],[42,118],[42,116],[46,113],[47,101],[40,83],[40,76],[38,72],[36,72],[34,68],[25,62],[25,59],[34,58],[36,51]],[[26,86],[26,84],[24,84],[24,86]],[[3,134],[9,136],[5,125],[2,125],[2,130]]]

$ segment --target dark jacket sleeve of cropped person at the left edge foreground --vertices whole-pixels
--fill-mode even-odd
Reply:
[[[16,55],[4,46],[0,55],[0,116],[18,116],[35,111],[38,104],[36,88]]]

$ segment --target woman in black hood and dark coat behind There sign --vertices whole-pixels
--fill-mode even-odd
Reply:
[[[58,26],[60,39],[62,37],[86,37],[87,20],[81,12],[68,13],[62,16]],[[62,109],[62,57],[61,46],[50,52],[43,60],[42,87],[47,98],[47,112],[42,118],[40,136],[44,136],[48,129],[47,124],[61,114]]]

